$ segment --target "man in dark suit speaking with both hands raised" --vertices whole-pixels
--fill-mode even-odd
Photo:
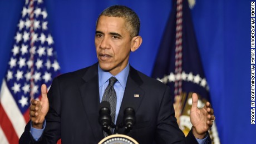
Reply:
[[[127,133],[139,143],[210,143],[207,133],[215,117],[210,103],[199,109],[193,94],[189,135],[174,117],[170,88],[129,64],[130,52],[142,43],[140,21],[132,9],[112,6],[97,19],[95,46],[98,63],[53,80],[50,91],[42,85],[42,100],[31,101],[31,121],[19,143],[98,143],[104,132],[98,122],[99,105],[109,79],[115,77],[114,123],[122,123],[126,107],[135,110],[136,123]],[[111,106],[112,107],[112,106]],[[118,130],[124,133],[124,128]],[[201,140],[203,139],[203,140]]]

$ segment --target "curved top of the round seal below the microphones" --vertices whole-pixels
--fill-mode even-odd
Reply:
[[[110,135],[105,138],[103,138],[98,144],[139,144],[137,141],[134,140],[134,138],[121,135],[121,134],[115,134]]]

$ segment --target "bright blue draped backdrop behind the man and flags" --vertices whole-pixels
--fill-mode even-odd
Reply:
[[[24,1],[0,0],[0,80]],[[171,0],[45,0],[61,73],[97,61],[94,35],[100,12],[126,5],[141,19],[141,47],[130,63],[150,76],[171,11]],[[191,10],[221,143],[256,143],[250,125],[250,1],[196,0]],[[0,84],[1,85],[1,84]],[[1,117],[0,117],[1,118]]]

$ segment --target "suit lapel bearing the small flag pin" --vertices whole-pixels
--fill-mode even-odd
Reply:
[[[137,71],[130,67],[129,76],[127,78],[126,88],[124,97],[122,99],[119,115],[117,117],[117,125],[120,125],[124,117],[124,110],[127,107],[132,107],[136,111],[138,110],[142,99],[144,98],[144,90],[140,88],[143,81],[141,80]],[[139,96],[139,97],[138,97]],[[122,133],[123,130],[120,130],[119,133]]]

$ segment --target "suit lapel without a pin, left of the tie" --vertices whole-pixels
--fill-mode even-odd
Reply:
[[[103,132],[99,122],[99,76],[97,70],[97,63],[88,68],[88,71],[82,77],[85,81],[80,86],[80,92],[82,97],[83,106],[90,122],[92,132],[96,140],[100,141],[103,138]]]

